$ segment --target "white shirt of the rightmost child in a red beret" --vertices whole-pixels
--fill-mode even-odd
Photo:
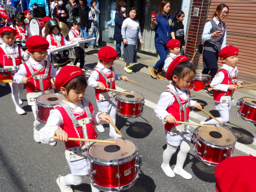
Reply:
[[[223,67],[224,69],[227,69],[227,70],[231,73],[232,76],[235,76],[235,71],[237,71],[237,73],[238,73],[237,67],[230,67],[230,66],[227,65],[227,64],[223,64],[222,67]],[[217,74],[214,76],[212,82],[210,83],[210,86],[211,86],[214,90],[216,90],[216,91],[224,91],[224,92],[227,92],[228,89],[229,89],[229,85],[223,85],[223,84],[221,84],[221,83],[223,82],[223,80],[224,80],[224,77],[225,77],[225,76],[224,76],[224,73],[223,73],[223,72],[217,73]]]

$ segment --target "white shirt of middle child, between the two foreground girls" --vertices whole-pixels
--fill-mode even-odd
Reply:
[[[111,74],[111,70],[105,67],[104,65],[100,64],[100,62],[98,62],[96,67],[100,68],[103,71],[103,73],[106,75]],[[120,75],[116,73],[115,80],[120,80],[119,76]],[[98,87],[98,82],[99,82],[98,80],[99,80],[99,73],[97,71],[92,71],[91,76],[89,77],[87,83],[90,87]]]

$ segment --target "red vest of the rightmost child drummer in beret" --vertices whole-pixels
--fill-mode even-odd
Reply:
[[[229,73],[225,69],[220,69],[219,72],[224,73],[224,80],[221,83],[222,85],[233,85],[232,80],[229,77]],[[235,74],[235,76],[233,76],[233,79],[236,79],[236,78],[237,77],[236,77],[236,74]],[[235,85],[236,85],[236,83],[235,83]],[[235,90],[233,90],[233,93],[234,93],[234,91]],[[220,102],[220,97],[222,97],[222,96],[230,96],[231,93],[232,93],[231,90],[228,90],[227,92],[224,92],[224,91],[216,91],[216,90],[213,89],[213,100],[216,101],[216,102]]]

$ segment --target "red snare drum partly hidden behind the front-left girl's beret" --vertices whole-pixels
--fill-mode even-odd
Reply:
[[[59,93],[41,95],[36,98],[36,108],[37,108],[37,121],[46,124],[47,119],[50,115],[50,110],[64,100],[65,96]]]

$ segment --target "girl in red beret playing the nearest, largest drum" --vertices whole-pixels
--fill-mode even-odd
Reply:
[[[56,77],[55,87],[65,95],[65,98],[50,111],[45,127],[39,132],[39,138],[41,143],[45,144],[56,141],[53,136],[65,142],[65,154],[71,174],[59,176],[57,184],[61,192],[73,192],[70,185],[80,185],[91,169],[91,163],[84,155],[84,149],[90,143],[69,141],[68,138],[97,139],[94,125],[102,121],[109,123],[112,119],[104,112],[94,113],[89,98],[85,97],[87,82],[83,70],[79,67],[64,66]],[[74,154],[70,155],[70,151],[74,151]],[[78,153],[75,154],[75,151]],[[91,189],[92,192],[100,192],[92,185]]]

